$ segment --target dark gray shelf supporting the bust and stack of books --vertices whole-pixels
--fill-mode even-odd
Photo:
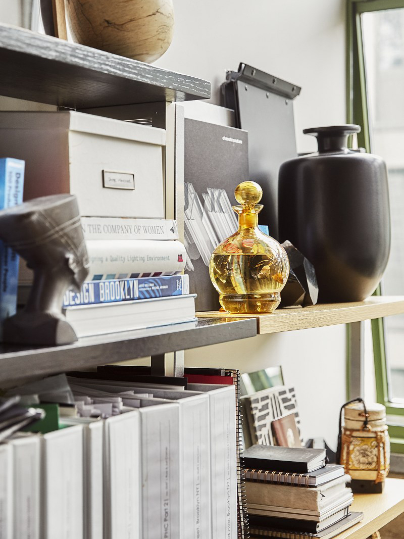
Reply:
[[[57,372],[96,367],[103,363],[254,337],[256,334],[255,318],[234,319],[224,316],[199,319],[191,329],[182,329],[182,324],[177,324],[109,333],[81,338],[74,344],[58,347],[23,348],[2,344],[0,380],[6,386],[22,378],[39,378]]]

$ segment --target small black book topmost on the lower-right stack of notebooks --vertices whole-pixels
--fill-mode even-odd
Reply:
[[[253,445],[243,456],[246,468],[279,472],[308,473],[312,466],[318,469],[325,464],[325,449],[307,447]],[[318,462],[318,466],[314,462]]]

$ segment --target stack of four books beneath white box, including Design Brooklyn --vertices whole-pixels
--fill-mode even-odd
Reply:
[[[171,219],[82,217],[89,274],[63,307],[78,337],[194,324],[184,245]]]

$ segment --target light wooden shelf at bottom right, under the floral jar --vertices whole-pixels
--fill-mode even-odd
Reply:
[[[367,539],[404,512],[404,480],[387,479],[382,494],[356,494],[351,509],[364,513],[363,521],[335,539]]]

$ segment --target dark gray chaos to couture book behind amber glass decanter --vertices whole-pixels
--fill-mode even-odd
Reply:
[[[236,186],[249,179],[247,135],[185,119],[185,270],[197,312],[220,308],[208,266],[214,249],[238,228],[232,206]]]

